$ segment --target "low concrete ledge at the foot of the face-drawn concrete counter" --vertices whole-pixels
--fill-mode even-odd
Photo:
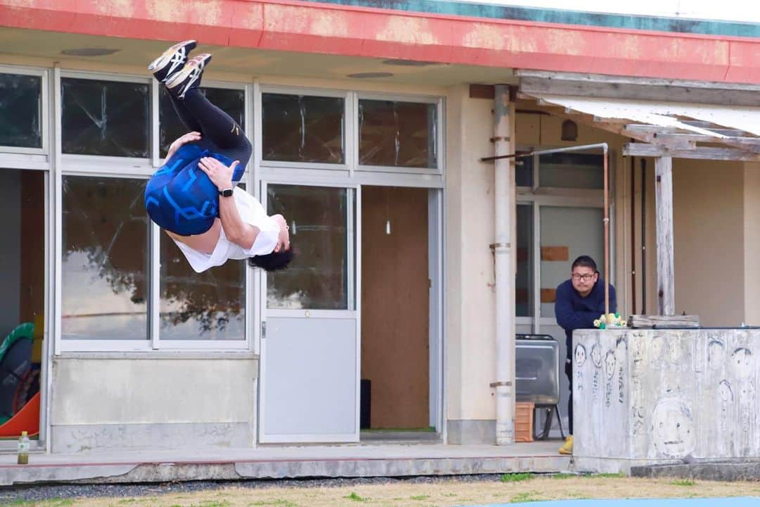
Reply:
[[[631,467],[632,477],[676,477],[695,480],[760,480],[760,461],[711,461]]]

